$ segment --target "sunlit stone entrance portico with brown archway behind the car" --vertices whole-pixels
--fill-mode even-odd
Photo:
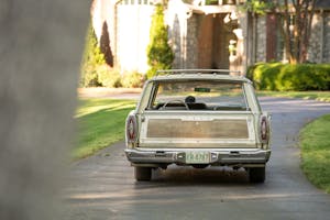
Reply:
[[[172,0],[167,22],[175,68],[243,70],[248,47],[244,41],[248,38],[246,14],[239,13],[234,1],[204,6]]]

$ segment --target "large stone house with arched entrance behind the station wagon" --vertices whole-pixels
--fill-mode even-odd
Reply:
[[[242,12],[245,0],[169,0],[165,12],[173,68],[223,68],[245,73],[256,62],[285,61],[276,14]],[[95,0],[100,40],[108,26],[113,66],[145,73],[153,0]],[[330,2],[317,0],[308,61],[330,63]]]

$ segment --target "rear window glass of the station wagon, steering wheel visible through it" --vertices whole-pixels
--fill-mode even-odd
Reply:
[[[160,81],[148,110],[249,110],[242,82]]]

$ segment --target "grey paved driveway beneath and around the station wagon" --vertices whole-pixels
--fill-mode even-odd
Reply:
[[[273,154],[266,182],[253,185],[243,170],[172,166],[151,183],[135,183],[123,143],[72,165],[65,217],[91,219],[330,219],[330,195],[299,168],[298,131],[330,103],[261,98],[273,112]]]

